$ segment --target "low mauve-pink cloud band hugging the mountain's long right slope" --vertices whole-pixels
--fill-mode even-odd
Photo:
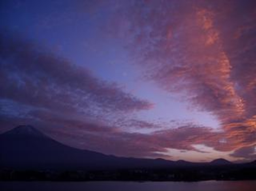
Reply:
[[[63,119],[61,119],[63,120]],[[162,130],[151,133],[132,133],[112,126],[72,122],[69,126],[63,120],[62,128],[45,128],[50,136],[74,147],[100,151],[106,154],[133,157],[160,157],[170,159],[168,148],[182,150],[200,150],[193,144],[216,144],[218,135],[208,128],[182,127],[173,130]],[[72,128],[72,131],[70,131]]]

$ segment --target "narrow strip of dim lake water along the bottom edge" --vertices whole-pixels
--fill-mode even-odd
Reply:
[[[1,191],[255,191],[256,181],[0,182]]]

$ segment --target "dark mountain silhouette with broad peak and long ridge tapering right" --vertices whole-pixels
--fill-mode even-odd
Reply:
[[[216,159],[210,163],[192,163],[184,160],[170,161],[105,155],[69,147],[30,125],[21,125],[0,135],[0,168],[100,170],[228,164],[231,162],[225,159]]]

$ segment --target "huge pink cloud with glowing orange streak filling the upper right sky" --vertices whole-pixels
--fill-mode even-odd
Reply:
[[[124,31],[129,35],[120,38],[146,80],[217,117],[223,133],[218,138],[210,133],[213,137],[208,139],[217,150],[237,150],[256,142],[255,7],[249,0],[164,0],[133,2],[113,13],[115,18],[125,9],[118,18],[129,23]],[[110,27],[122,30],[118,24]],[[196,132],[179,141],[172,140],[173,133],[166,133],[166,138],[170,136],[175,145],[190,142]],[[225,144],[216,144],[221,137]]]

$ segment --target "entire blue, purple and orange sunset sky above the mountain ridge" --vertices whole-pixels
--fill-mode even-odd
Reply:
[[[254,0],[2,0],[0,23],[0,132],[256,160]]]

